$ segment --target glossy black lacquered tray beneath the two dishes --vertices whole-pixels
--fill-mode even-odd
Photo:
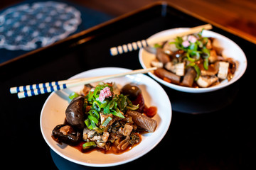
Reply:
[[[207,21],[210,23],[210,21]],[[161,30],[206,23],[170,4],[156,3],[82,31],[0,66],[1,143],[4,162],[29,169],[95,169],[68,162],[43,140],[40,113],[48,94],[18,99],[11,86],[68,79],[99,67],[141,69],[138,51],[111,56],[110,47],[148,38]],[[232,86],[186,94],[163,86],[173,117],[169,132],[151,152],[112,169],[252,169],[255,160],[253,86],[256,45],[213,24],[247,56],[247,71]],[[250,98],[252,96],[252,98]],[[136,149],[136,148],[134,148]]]

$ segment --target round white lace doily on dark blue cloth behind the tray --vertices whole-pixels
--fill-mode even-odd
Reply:
[[[0,15],[0,48],[34,50],[68,37],[81,23],[80,11],[55,1],[22,4]]]

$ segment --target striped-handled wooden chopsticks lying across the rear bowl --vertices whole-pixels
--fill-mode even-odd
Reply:
[[[128,43],[127,45],[119,45],[117,47],[111,47],[110,54],[112,56],[121,55],[124,52],[132,52],[133,50],[138,50],[141,47],[154,46],[156,43],[159,43],[159,42],[164,42],[166,40],[171,40],[176,37],[183,37],[185,35],[198,33],[203,29],[210,30],[212,28],[213,28],[213,26],[211,26],[210,24],[206,24],[203,26],[197,26],[197,27],[190,28],[189,30],[184,31],[182,33],[175,33],[175,34],[171,34],[171,35],[167,35],[167,36],[159,37],[159,38],[148,38],[146,40],[139,40],[137,42]]]

